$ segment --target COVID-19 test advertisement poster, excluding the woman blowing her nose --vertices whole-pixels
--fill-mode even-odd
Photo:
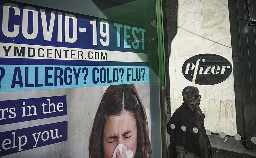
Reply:
[[[0,26],[0,157],[89,157],[111,85],[136,87],[150,128],[145,28],[13,1]]]

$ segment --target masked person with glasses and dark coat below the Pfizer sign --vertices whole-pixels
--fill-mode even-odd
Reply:
[[[212,158],[204,113],[199,107],[201,95],[196,87],[182,91],[183,103],[167,124],[170,134],[170,158]]]

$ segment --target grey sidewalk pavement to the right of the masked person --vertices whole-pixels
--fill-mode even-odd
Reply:
[[[256,158],[256,150],[247,150],[234,137],[221,138],[219,134],[208,136],[213,158]]]

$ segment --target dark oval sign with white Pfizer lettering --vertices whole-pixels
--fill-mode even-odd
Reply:
[[[199,85],[215,85],[228,79],[231,63],[216,54],[199,54],[189,58],[182,66],[182,73],[189,81]]]

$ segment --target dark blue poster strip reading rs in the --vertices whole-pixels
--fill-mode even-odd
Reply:
[[[0,101],[0,124],[67,115],[66,96]]]

